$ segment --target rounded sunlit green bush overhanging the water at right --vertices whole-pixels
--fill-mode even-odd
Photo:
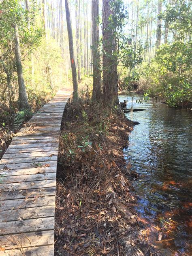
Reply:
[[[167,48],[166,45],[164,47]],[[162,48],[163,46],[158,51],[156,59],[145,68],[144,77],[149,85],[148,93],[150,96],[165,98],[171,107],[185,107],[192,101],[192,72],[183,59],[177,62],[177,58],[173,58],[172,62],[169,54],[161,51]]]

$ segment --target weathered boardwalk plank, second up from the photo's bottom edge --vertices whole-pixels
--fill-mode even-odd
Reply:
[[[0,237],[0,247],[3,250],[49,245],[54,242],[53,230],[25,233],[19,235],[4,235]],[[45,254],[44,254],[45,255]]]

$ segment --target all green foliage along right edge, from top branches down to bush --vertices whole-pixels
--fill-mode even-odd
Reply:
[[[143,79],[140,80],[142,85],[147,84],[150,96],[164,98],[171,107],[187,107],[192,102],[190,8],[190,3],[176,0],[174,6],[168,5],[162,13],[162,19],[173,33],[173,40],[159,47],[154,60],[143,69]]]

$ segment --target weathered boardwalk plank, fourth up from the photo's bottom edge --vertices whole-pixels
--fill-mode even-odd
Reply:
[[[52,200],[50,203],[55,202]],[[27,219],[36,219],[36,218],[44,218],[51,217],[55,214],[55,205],[52,204],[50,206],[37,206],[31,208],[23,208],[23,209],[11,209],[4,210],[0,212],[1,219],[4,222],[13,221],[13,220],[27,220]],[[6,223],[5,223],[6,224]],[[28,230],[26,230],[27,232]]]

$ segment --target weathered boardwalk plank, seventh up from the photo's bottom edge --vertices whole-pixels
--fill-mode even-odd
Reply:
[[[40,181],[25,181],[16,183],[2,183],[0,184],[0,190],[22,190],[32,188],[51,188],[56,185],[56,179],[40,180]]]

